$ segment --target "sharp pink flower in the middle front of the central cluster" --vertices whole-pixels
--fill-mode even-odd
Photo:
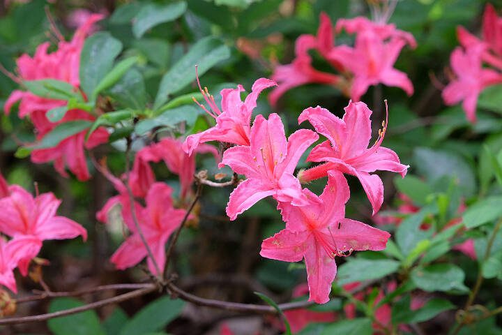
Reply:
[[[268,195],[281,202],[305,204],[305,195],[293,172],[303,152],[318,138],[313,131],[301,129],[286,140],[279,115],[273,113],[268,120],[258,115],[250,131],[250,146],[227,149],[219,165],[220,168],[229,165],[248,178],[230,195],[229,218],[235,220],[238,214]]]

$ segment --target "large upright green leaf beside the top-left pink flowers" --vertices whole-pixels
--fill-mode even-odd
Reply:
[[[80,54],[80,87],[87,96],[92,96],[98,83],[112,69],[121,50],[121,41],[108,32],[100,31],[86,39]]]

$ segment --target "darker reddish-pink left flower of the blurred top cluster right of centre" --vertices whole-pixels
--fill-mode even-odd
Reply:
[[[300,36],[295,43],[296,58],[291,64],[280,65],[274,69],[272,79],[279,85],[268,96],[268,101],[273,107],[277,105],[277,101],[284,93],[294,87],[311,83],[334,85],[340,82],[340,76],[314,69],[312,57],[308,54],[308,50],[318,47],[321,54],[329,57],[333,66],[341,67],[339,61],[329,56],[333,50],[333,33],[330,28],[329,18],[327,15],[322,15],[318,38],[312,35]]]

